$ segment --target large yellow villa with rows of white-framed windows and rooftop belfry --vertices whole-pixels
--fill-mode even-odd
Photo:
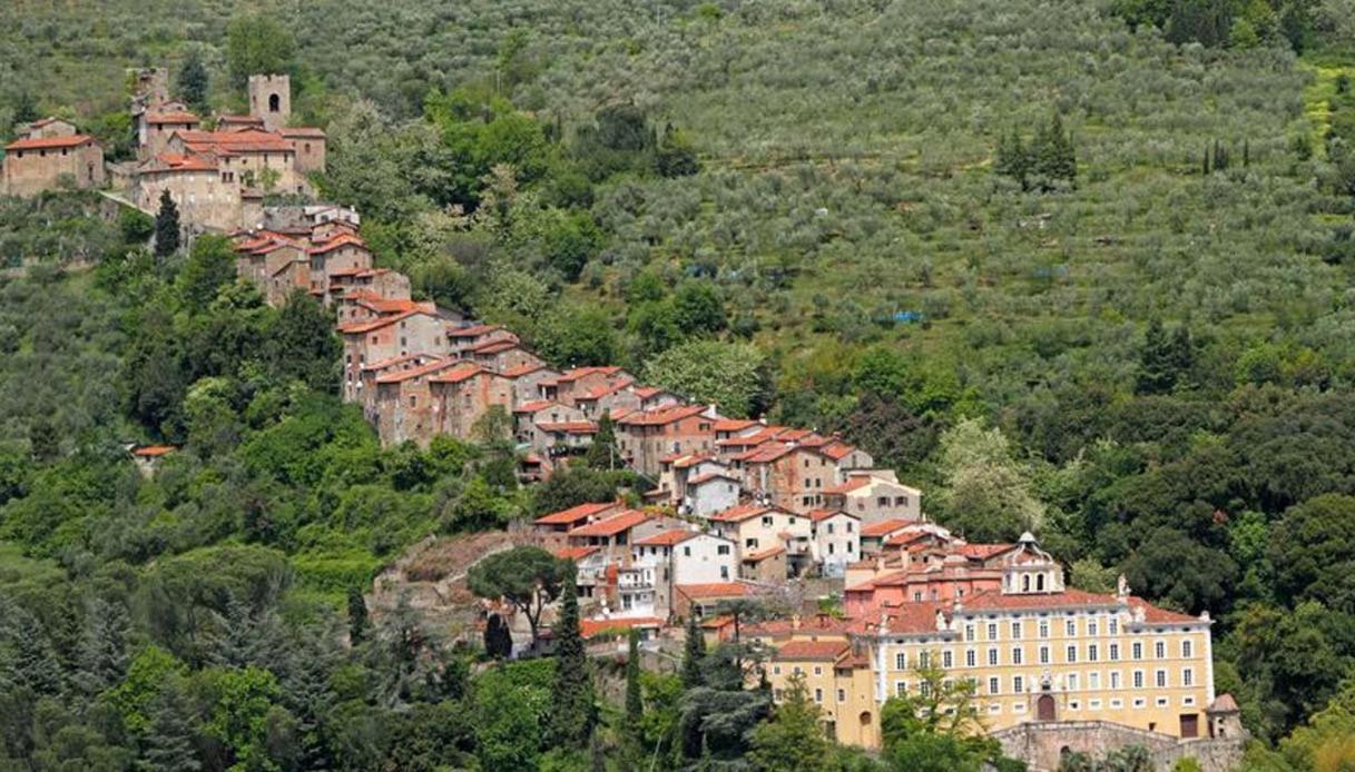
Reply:
[[[1028,722],[1112,722],[1180,739],[1213,735],[1207,614],[1156,608],[1129,593],[1064,586],[1062,567],[1028,534],[1003,585],[948,603],[888,607],[878,619],[782,635],[774,695],[797,672],[840,742],[877,746],[879,708],[925,688],[917,670],[967,679],[988,731]],[[864,692],[864,693],[863,693]]]

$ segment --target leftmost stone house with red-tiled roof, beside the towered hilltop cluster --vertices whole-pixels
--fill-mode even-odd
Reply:
[[[62,186],[88,190],[103,183],[103,148],[93,137],[35,137],[5,145],[0,190],[5,195],[33,196]]]

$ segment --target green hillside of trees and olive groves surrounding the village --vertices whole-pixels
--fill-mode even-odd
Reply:
[[[1314,769],[1355,734],[1352,11],[20,0],[0,134],[64,114],[117,156],[123,68],[220,108],[287,70],[329,133],[324,195],[423,297],[558,364],[843,432],[974,540],[1030,527],[1079,586],[1125,573],[1210,611],[1251,765]],[[635,725],[599,699],[554,727],[580,699],[564,658],[486,668],[412,611],[369,624],[354,589],[419,538],[630,481],[519,488],[488,429],[382,450],[335,397],[322,312],[267,307],[222,241],[157,257],[150,228],[79,195],[0,203],[7,763],[993,756],[900,711],[879,761],[778,757],[812,707],[732,688],[741,651],[631,674]],[[140,475],[123,444],[161,440],[184,451]]]

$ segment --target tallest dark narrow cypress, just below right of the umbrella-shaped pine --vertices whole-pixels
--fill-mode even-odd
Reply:
[[[570,566],[572,567],[572,566]],[[584,749],[593,727],[592,673],[579,631],[579,585],[565,574],[556,620],[556,683],[550,691],[550,738],[560,748]]]

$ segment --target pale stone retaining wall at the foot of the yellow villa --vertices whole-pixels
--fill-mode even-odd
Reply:
[[[1003,753],[1030,765],[1033,772],[1058,769],[1064,753],[1103,758],[1107,753],[1140,745],[1153,757],[1153,767],[1169,772],[1180,758],[1194,758],[1205,772],[1230,772],[1243,757],[1244,737],[1177,739],[1169,734],[1134,729],[1108,721],[1028,722],[992,733]]]

